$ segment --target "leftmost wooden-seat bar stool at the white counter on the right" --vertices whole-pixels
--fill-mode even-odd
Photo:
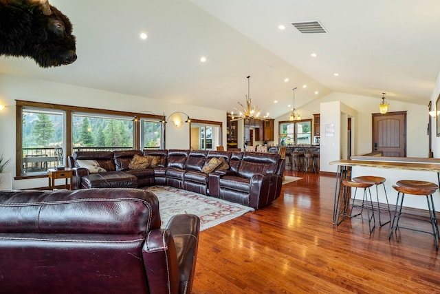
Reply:
[[[373,208],[373,201],[371,200],[371,191],[370,187],[375,185],[374,182],[354,182],[351,180],[342,180],[342,205],[343,207],[338,212],[338,222],[337,225],[339,225],[342,220],[344,220],[345,217],[348,218],[355,218],[356,216],[360,216],[362,214],[362,211],[364,211],[364,207],[366,207],[366,213],[369,220],[369,229],[370,233],[373,232],[375,228],[375,218],[374,218],[374,208]],[[353,196],[353,202],[350,204],[350,191],[351,188],[355,188],[355,195]],[[358,188],[364,189],[364,196],[362,198],[362,204],[361,205],[355,205],[355,198],[356,198],[356,192],[358,191]],[[370,194],[370,203],[366,195],[366,191],[369,191]],[[336,207],[336,211],[338,211],[338,205]],[[354,216],[351,215],[353,208],[360,208],[361,211],[358,214],[355,214]],[[370,216],[370,209],[371,209],[371,216]],[[340,220],[340,217],[342,219]],[[373,227],[371,227],[371,222],[373,222]]]

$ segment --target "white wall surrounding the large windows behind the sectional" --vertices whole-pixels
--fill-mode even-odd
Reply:
[[[5,158],[12,159],[11,164],[5,169],[5,172],[11,172],[12,176],[15,176],[15,164],[13,162],[15,162],[16,149],[14,101],[16,99],[126,112],[149,110],[155,114],[165,113],[167,117],[173,112],[180,111],[188,114],[190,118],[223,122],[223,138],[226,138],[226,115],[224,111],[218,109],[177,105],[139,96],[0,74],[0,105],[7,105],[0,112],[0,154],[3,153]],[[180,129],[177,129],[168,121],[166,126],[166,148],[188,149],[190,146],[189,132],[188,124],[184,123]],[[223,145],[225,145],[224,142]],[[47,178],[14,180],[12,182],[14,189],[46,186]]]

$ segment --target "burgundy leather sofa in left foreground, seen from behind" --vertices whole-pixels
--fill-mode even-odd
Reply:
[[[200,220],[140,189],[0,191],[0,293],[190,293]]]

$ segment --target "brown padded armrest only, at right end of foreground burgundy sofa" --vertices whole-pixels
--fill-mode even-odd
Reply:
[[[200,219],[193,214],[173,216],[166,229],[173,235],[179,262],[179,293],[191,293],[199,247]]]

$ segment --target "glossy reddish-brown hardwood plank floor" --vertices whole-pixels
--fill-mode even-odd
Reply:
[[[366,217],[337,227],[336,179],[286,175],[303,179],[270,207],[200,233],[192,293],[440,293],[432,235],[402,229],[388,241],[391,225],[370,235]]]

